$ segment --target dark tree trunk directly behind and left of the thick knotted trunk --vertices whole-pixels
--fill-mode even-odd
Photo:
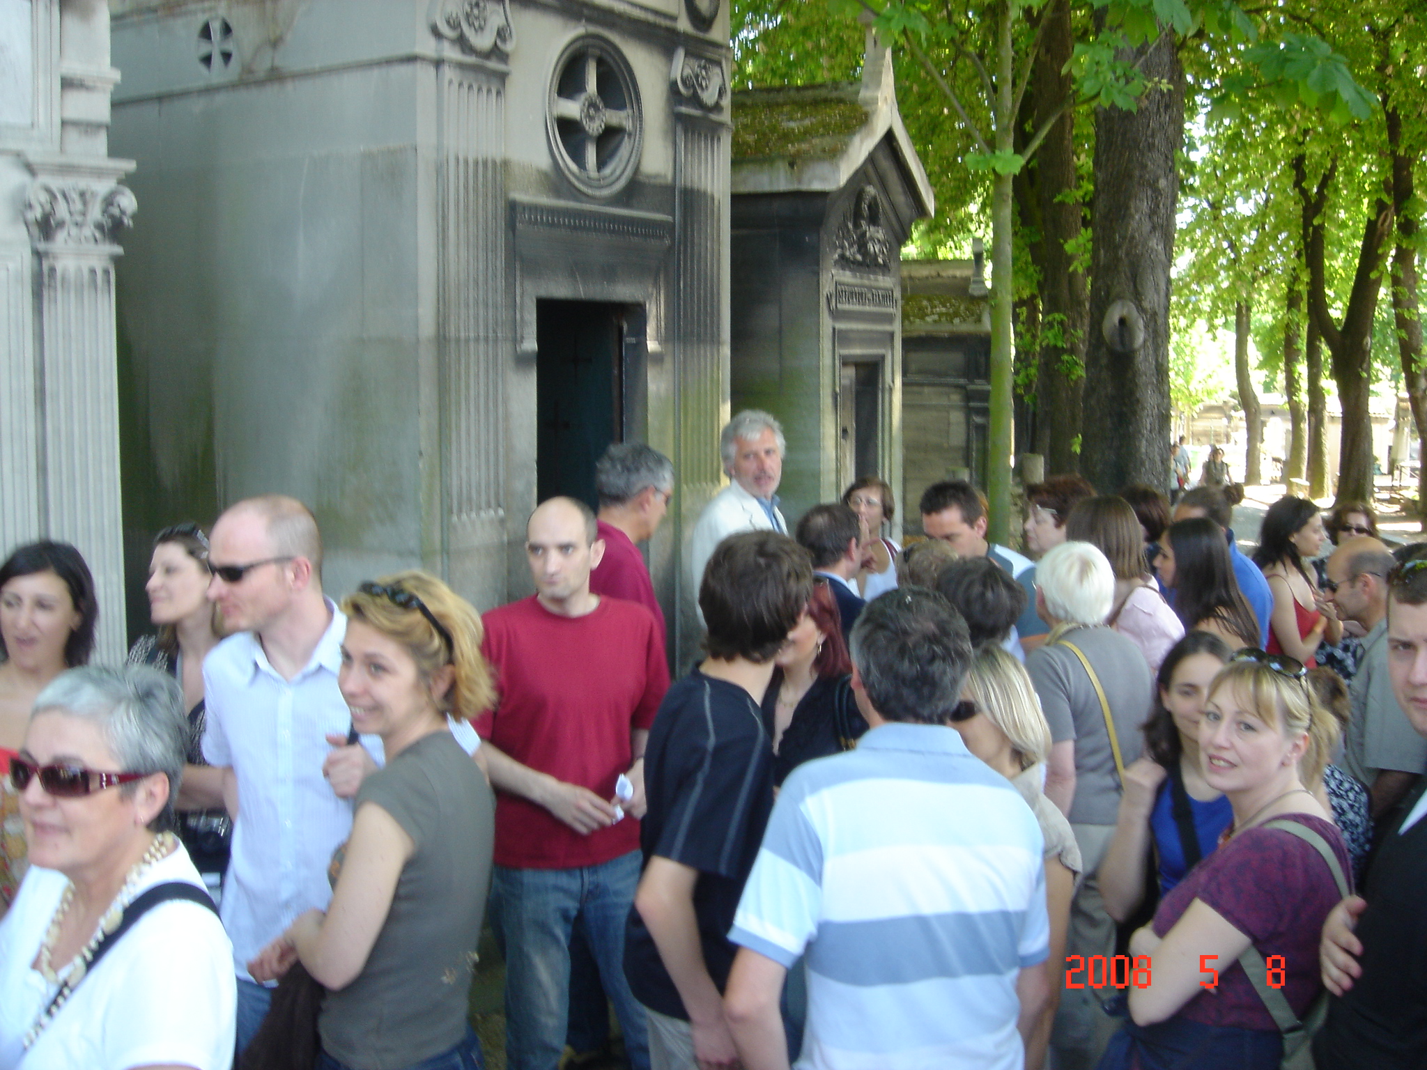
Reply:
[[[1066,66],[1075,34],[1070,0],[1052,0],[1042,16],[1040,50],[1036,53],[1027,96],[1035,103],[1032,127],[1039,130],[1075,90]],[[1080,399],[1085,388],[1085,324],[1089,292],[1085,274],[1072,270],[1066,244],[1080,237],[1083,213],[1063,194],[1076,185],[1075,114],[1066,108],[1040,143],[1035,157],[1035,193],[1039,201],[1040,241],[1032,250],[1040,268],[1040,322],[1045,331],[1036,374],[1036,451],[1046,458],[1046,474],[1079,471]]]

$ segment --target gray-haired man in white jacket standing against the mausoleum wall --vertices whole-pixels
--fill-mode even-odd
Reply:
[[[689,545],[689,579],[698,591],[714,548],[736,531],[788,534],[778,511],[778,484],[783,478],[788,441],[782,425],[768,412],[748,408],[733,417],[719,435],[723,471],[732,482],[714,495],[694,525]]]

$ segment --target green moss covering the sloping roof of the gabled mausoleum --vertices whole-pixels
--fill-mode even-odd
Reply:
[[[733,160],[832,160],[868,121],[855,83],[733,94]]]

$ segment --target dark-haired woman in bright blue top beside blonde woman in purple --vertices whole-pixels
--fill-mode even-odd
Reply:
[[[1100,863],[1100,895],[1116,922],[1133,917],[1144,897],[1152,846],[1163,896],[1213,852],[1234,817],[1223,792],[1204,780],[1199,755],[1209,683],[1229,656],[1217,635],[1189,632],[1160,665],[1143,729],[1146,756],[1124,769],[1114,839]]]

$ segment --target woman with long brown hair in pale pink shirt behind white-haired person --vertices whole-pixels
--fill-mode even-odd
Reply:
[[[1159,672],[1164,653],[1184,636],[1184,625],[1152,585],[1134,509],[1114,495],[1082,498],[1070,511],[1066,534],[1099,546],[1109,559],[1114,603],[1104,622],[1140,648],[1150,672]]]

